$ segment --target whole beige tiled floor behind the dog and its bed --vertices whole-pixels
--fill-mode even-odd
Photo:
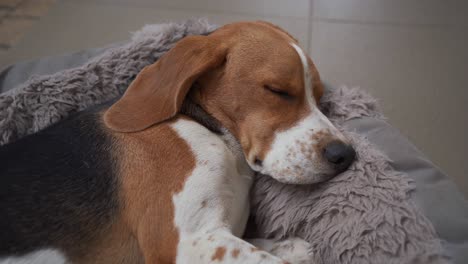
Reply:
[[[284,27],[325,80],[378,97],[389,121],[468,194],[468,1],[62,0],[0,53],[0,67],[126,40],[144,24],[200,16]]]

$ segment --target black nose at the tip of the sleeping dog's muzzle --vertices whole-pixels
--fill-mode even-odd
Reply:
[[[340,173],[353,163],[356,158],[356,151],[352,146],[335,140],[323,148],[323,156]]]

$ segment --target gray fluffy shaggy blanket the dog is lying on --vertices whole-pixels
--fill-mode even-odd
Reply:
[[[0,95],[0,145],[41,130],[69,114],[121,95],[146,65],[187,35],[206,34],[206,21],[148,25],[132,40],[83,66],[35,76]],[[410,200],[411,180],[343,122],[382,118],[359,89],[331,89],[321,106],[352,140],[358,161],[332,181],[294,186],[259,175],[252,190],[258,237],[300,236],[316,263],[447,263],[432,224]]]

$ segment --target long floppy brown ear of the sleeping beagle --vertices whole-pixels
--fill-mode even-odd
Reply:
[[[180,40],[156,63],[146,66],[125,94],[104,114],[104,123],[118,132],[136,132],[174,117],[193,82],[221,65],[227,48],[211,36]]]

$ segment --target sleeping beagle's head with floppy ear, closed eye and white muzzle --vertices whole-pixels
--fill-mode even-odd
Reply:
[[[317,107],[322,93],[294,38],[266,22],[242,22],[179,41],[140,72],[104,120],[115,131],[140,131],[174,117],[190,96],[237,138],[253,170],[314,183],[355,157]]]

